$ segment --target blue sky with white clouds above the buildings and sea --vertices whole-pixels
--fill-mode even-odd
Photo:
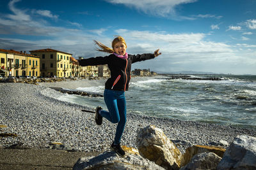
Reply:
[[[0,48],[105,56],[93,39],[162,55],[132,68],[256,74],[254,0],[1,0]]]

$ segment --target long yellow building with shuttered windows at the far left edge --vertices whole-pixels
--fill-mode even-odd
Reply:
[[[22,51],[17,52],[15,50],[0,49],[0,52],[6,53],[6,60],[3,60],[5,62],[5,76],[40,75],[40,57]],[[29,63],[31,63],[31,65],[29,65]]]

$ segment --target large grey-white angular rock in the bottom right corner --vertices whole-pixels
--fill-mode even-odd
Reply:
[[[228,146],[217,169],[256,169],[256,138],[237,136]]]

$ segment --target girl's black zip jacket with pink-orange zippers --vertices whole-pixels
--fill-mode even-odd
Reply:
[[[131,65],[141,60],[154,59],[154,53],[128,55],[128,59],[121,59],[111,54],[106,57],[92,57],[79,60],[80,66],[97,66],[108,64],[111,77],[105,83],[105,89],[125,91],[131,80]]]

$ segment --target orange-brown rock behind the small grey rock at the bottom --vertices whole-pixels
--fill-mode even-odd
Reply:
[[[185,166],[192,159],[192,157],[198,153],[204,152],[213,152],[219,157],[223,157],[225,148],[221,146],[204,146],[204,145],[195,145],[186,149],[184,155],[182,155],[180,166]]]

